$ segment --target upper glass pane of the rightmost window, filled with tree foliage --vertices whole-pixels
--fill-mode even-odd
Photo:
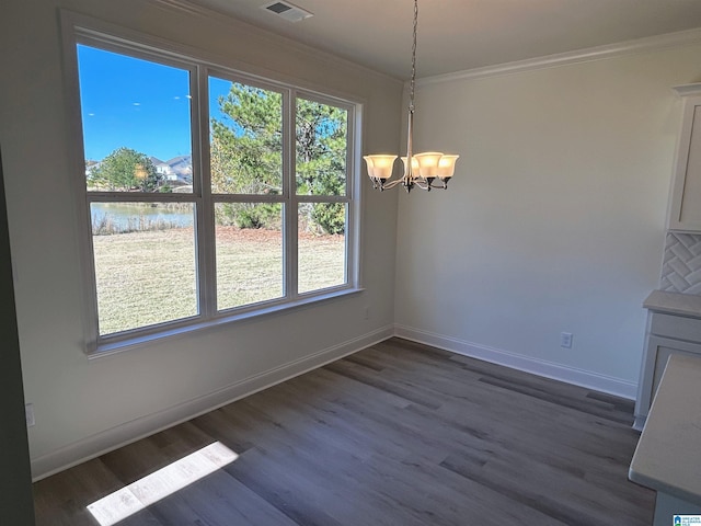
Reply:
[[[348,112],[297,99],[297,193],[345,195]]]

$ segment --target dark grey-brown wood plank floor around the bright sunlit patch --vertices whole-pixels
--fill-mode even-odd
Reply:
[[[392,339],[34,484],[37,525],[215,441],[232,464],[118,523],[650,525],[633,404]]]

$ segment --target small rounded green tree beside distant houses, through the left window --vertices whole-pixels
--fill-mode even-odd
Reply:
[[[118,192],[158,192],[162,175],[146,153],[118,148],[88,174],[90,186]]]

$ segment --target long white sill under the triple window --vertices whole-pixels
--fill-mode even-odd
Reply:
[[[177,327],[169,325],[168,328],[159,328],[158,332],[140,333],[119,340],[110,340],[107,342],[101,342],[97,344],[94,351],[87,352],[89,359],[102,358],[105,356],[112,356],[125,351],[146,347],[148,345],[163,343],[166,340],[192,335],[197,332],[221,328],[237,323],[240,321],[246,321],[264,316],[276,315],[279,312],[295,310],[309,305],[329,301],[336,298],[343,298],[364,291],[364,288],[344,288],[341,290],[333,290],[321,295],[314,295],[309,297],[302,297],[295,301],[286,301],[279,305],[266,306],[257,308],[255,310],[246,310],[243,312],[225,313],[217,316],[216,318],[206,321],[183,322]]]

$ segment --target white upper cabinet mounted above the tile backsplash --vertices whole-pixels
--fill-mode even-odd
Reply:
[[[670,230],[701,232],[701,83],[675,88],[683,100],[669,201]]]

